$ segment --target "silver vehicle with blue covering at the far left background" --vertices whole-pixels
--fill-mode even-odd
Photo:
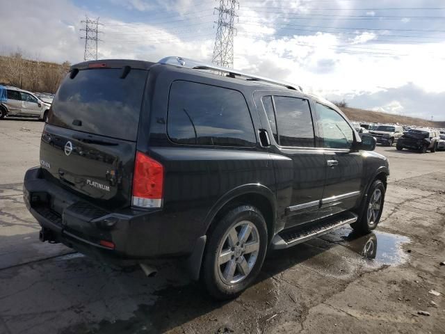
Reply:
[[[46,120],[51,104],[33,93],[12,86],[0,86],[0,118],[5,116],[37,117]]]

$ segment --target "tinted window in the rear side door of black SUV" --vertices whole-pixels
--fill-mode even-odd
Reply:
[[[313,147],[314,127],[307,100],[274,96],[280,145]]]

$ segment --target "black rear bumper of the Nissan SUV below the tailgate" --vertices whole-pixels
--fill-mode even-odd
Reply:
[[[169,223],[161,210],[111,212],[91,205],[31,168],[24,178],[24,202],[50,240],[116,264],[192,255],[199,235],[166,239]],[[162,228],[164,227],[164,229]],[[175,235],[175,233],[172,233]],[[168,240],[168,241],[165,241]],[[103,246],[111,241],[114,247]]]

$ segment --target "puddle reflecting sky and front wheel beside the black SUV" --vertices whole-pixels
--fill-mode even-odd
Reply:
[[[401,245],[410,242],[410,238],[398,234],[375,230],[367,235],[355,234],[350,228],[340,228],[321,237],[325,241],[341,244],[354,250],[376,264],[402,264],[407,260]]]

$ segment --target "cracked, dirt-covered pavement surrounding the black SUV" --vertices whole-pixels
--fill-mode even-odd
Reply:
[[[221,303],[175,263],[147,278],[38,241],[21,191],[42,127],[0,121],[0,333],[445,333],[445,152],[378,147],[391,176],[374,233],[270,253]]]

